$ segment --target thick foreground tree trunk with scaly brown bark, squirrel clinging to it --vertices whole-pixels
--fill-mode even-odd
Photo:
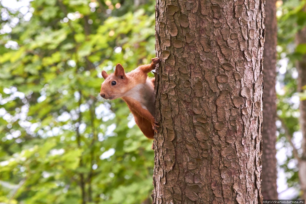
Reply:
[[[156,5],[153,203],[261,203],[263,1]]]

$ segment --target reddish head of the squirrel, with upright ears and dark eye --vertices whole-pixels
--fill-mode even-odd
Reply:
[[[113,100],[124,96],[128,91],[126,90],[128,79],[121,64],[117,64],[115,72],[110,75],[102,71],[102,76],[105,80],[101,84],[101,97]]]

